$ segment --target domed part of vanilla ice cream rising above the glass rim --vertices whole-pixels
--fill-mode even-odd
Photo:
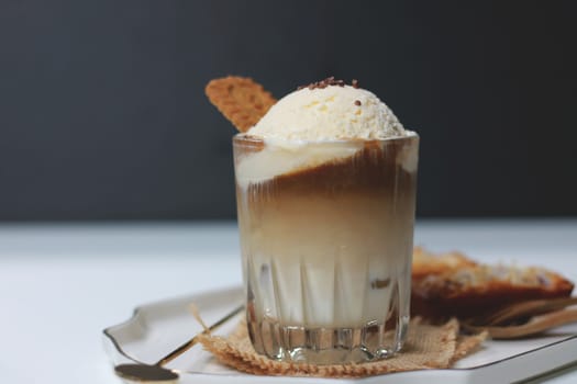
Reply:
[[[386,139],[406,136],[408,131],[374,93],[325,86],[289,93],[247,134],[271,140],[324,142]]]

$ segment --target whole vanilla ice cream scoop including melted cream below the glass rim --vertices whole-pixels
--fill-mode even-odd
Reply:
[[[364,140],[414,136],[374,93],[329,78],[280,99],[242,136],[265,146],[236,165],[241,188],[277,176],[341,161],[364,148]],[[410,154],[409,154],[410,155]],[[407,159],[404,158],[407,157]],[[417,167],[412,156],[399,163]]]

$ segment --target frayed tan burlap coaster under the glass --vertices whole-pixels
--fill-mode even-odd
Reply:
[[[452,319],[442,326],[411,320],[407,342],[390,359],[362,364],[313,365],[274,361],[255,352],[246,323],[243,320],[226,337],[203,334],[199,341],[221,363],[237,371],[258,375],[363,377],[391,372],[450,368],[455,361],[474,351],[487,337],[459,336],[459,325]]]

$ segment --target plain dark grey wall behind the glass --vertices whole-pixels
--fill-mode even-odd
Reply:
[[[420,216],[577,214],[574,1],[0,2],[0,219],[234,217],[204,98],[329,75],[421,135]]]

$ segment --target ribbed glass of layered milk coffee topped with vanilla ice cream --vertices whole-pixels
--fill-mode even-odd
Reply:
[[[409,321],[419,137],[330,79],[234,137],[247,325],[257,352],[382,359]]]

